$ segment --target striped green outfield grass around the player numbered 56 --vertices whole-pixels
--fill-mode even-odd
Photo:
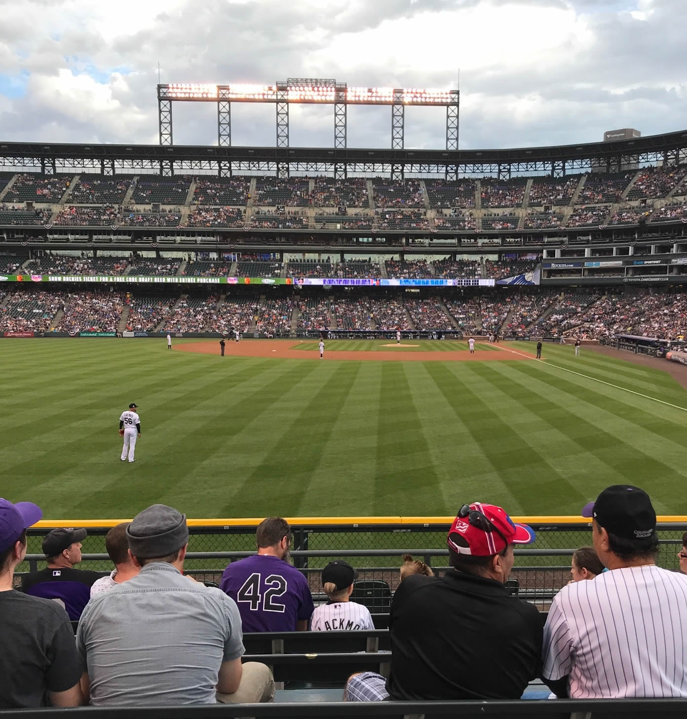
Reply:
[[[129,517],[155,502],[190,517],[452,515],[476,498],[536,515],[577,514],[604,486],[632,482],[659,513],[687,513],[687,395],[665,372],[548,344],[547,362],[329,357],[5,339],[2,495],[52,519]],[[117,429],[132,401],[143,436],[128,464]]]

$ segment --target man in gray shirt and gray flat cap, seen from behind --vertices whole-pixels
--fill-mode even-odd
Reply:
[[[141,572],[93,597],[78,626],[81,683],[91,705],[272,701],[269,668],[241,664],[245,649],[234,600],[183,576],[186,516],[152,505],[126,536]]]

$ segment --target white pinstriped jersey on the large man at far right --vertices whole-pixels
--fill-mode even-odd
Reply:
[[[687,575],[624,567],[563,587],[544,628],[545,679],[575,699],[687,697]]]

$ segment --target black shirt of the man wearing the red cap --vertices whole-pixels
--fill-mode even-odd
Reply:
[[[389,616],[392,700],[519,699],[540,674],[538,610],[494,580],[407,577]]]

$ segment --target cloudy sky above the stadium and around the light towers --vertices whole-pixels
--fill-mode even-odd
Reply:
[[[687,127],[687,0],[0,0],[0,140],[157,143],[162,82],[456,88],[461,148]],[[349,108],[349,147],[390,147],[389,107]],[[407,109],[406,147],[445,111]],[[216,106],[176,103],[175,144],[216,144]],[[234,145],[275,145],[275,106],[233,104]],[[290,145],[333,145],[331,106],[292,106]]]

